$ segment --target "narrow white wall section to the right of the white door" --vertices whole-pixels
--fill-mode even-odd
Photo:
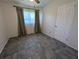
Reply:
[[[73,23],[66,42],[69,46],[78,49],[78,6],[75,5]]]

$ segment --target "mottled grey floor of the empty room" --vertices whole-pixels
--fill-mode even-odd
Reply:
[[[77,51],[40,33],[10,39],[0,59],[77,59]]]

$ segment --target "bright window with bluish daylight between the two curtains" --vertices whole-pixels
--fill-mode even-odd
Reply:
[[[35,23],[35,11],[30,9],[24,9],[24,22],[25,24]]]

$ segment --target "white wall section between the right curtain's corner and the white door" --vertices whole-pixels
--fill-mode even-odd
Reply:
[[[44,20],[43,20],[43,33],[53,37],[54,36],[54,24],[56,18],[56,12],[54,11],[56,7],[52,4],[47,5],[44,8]]]

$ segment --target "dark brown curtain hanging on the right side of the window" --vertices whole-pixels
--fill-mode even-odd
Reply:
[[[39,10],[35,10],[35,33],[40,33],[40,19],[39,19]]]

